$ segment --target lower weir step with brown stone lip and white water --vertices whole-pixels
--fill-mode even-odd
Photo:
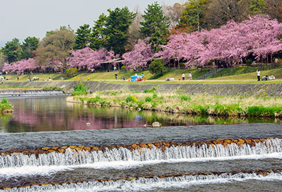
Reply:
[[[51,182],[27,184],[19,187],[3,187],[5,192],[28,191],[151,191],[152,189],[167,189],[170,187],[184,188],[191,185],[220,184],[226,182],[246,182],[248,180],[281,180],[281,170],[256,170],[245,172],[169,174],[161,176],[133,176],[131,178],[90,179],[90,181]],[[1,190],[1,189],[0,189]]]

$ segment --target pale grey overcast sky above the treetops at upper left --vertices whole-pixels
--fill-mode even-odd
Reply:
[[[107,9],[127,6],[144,11],[156,0],[0,0],[0,47],[12,38],[43,38],[47,31],[69,25],[77,29],[84,23],[91,27]],[[158,0],[173,5],[183,0]]]

